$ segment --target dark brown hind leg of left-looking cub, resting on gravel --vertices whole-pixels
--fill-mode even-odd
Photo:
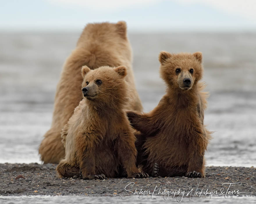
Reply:
[[[63,159],[60,161],[60,163],[58,164],[56,171],[58,173],[58,176],[60,178],[70,178],[73,176],[80,176],[79,175],[79,167],[78,166],[72,166],[68,163],[66,163],[66,161]]]

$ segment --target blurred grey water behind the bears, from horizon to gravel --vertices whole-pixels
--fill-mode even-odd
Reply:
[[[40,163],[38,146],[51,125],[62,65],[80,33],[0,33],[0,163]],[[215,131],[207,165],[256,164],[256,34],[129,33],[144,111],[165,92],[158,54],[203,53],[210,92],[205,124]]]

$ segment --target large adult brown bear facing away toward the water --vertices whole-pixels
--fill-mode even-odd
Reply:
[[[134,84],[131,61],[131,47],[126,35],[125,22],[88,24],[84,28],[77,47],[64,64],[56,88],[51,128],[46,132],[39,147],[39,154],[44,163],[58,163],[65,156],[65,149],[61,143],[61,129],[82,99],[80,87],[83,80],[81,77],[83,65],[87,65],[92,70],[105,65],[111,67],[125,65],[127,67],[125,80],[129,83],[131,97],[125,109],[142,111]]]

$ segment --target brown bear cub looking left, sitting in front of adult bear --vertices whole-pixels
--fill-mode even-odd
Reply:
[[[143,178],[136,167],[134,130],[124,108],[129,103],[125,66],[82,67],[83,100],[64,126],[61,138],[65,159],[57,166],[60,177],[83,179],[119,177]]]

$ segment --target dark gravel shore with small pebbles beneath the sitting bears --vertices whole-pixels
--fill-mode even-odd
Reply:
[[[157,178],[106,178],[105,180],[83,180],[80,178],[58,178],[56,164],[0,164],[0,196],[130,196],[140,189],[163,196],[164,191],[193,192],[230,191],[229,196],[256,196],[256,167],[206,167],[205,178],[157,177]],[[16,180],[15,178],[19,176]],[[157,183],[154,183],[157,182]],[[133,184],[134,183],[134,184]],[[153,184],[152,184],[153,183]],[[223,183],[224,184],[222,186]],[[229,183],[231,184],[229,187]],[[126,187],[127,186],[127,187]],[[126,187],[126,190],[125,190]],[[144,191],[144,192],[145,192]],[[243,192],[246,194],[239,194]],[[133,192],[133,193],[131,193]],[[160,192],[160,193],[158,193]],[[143,193],[143,191],[141,191]],[[147,194],[145,195],[152,195]],[[218,194],[214,193],[213,196]],[[133,197],[138,197],[134,194]],[[200,197],[210,195],[201,194]],[[223,193],[225,196],[225,193]]]

